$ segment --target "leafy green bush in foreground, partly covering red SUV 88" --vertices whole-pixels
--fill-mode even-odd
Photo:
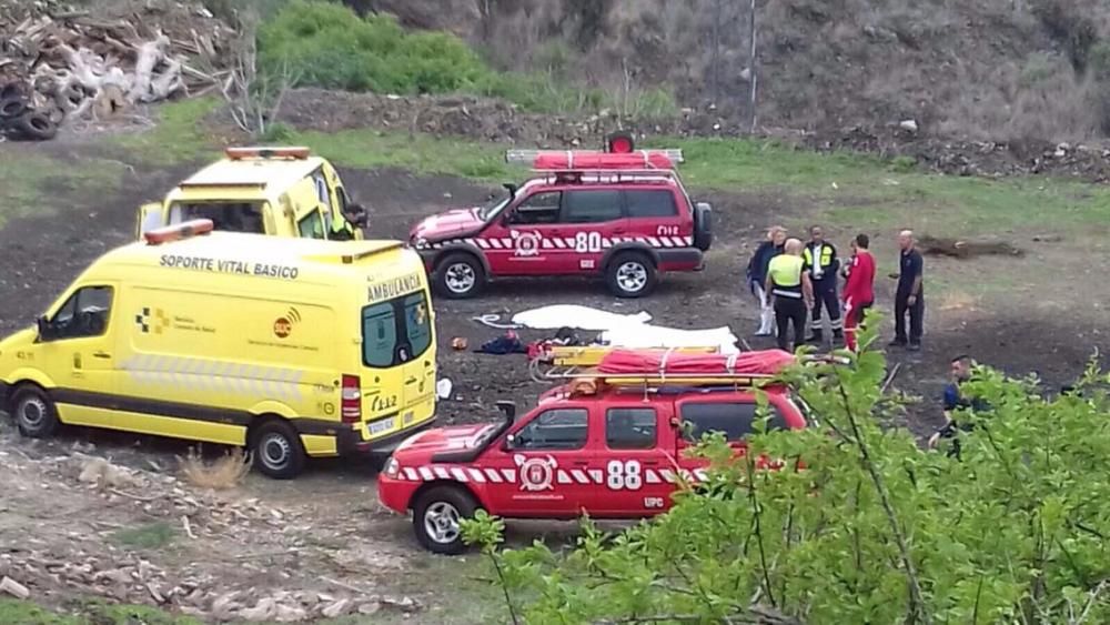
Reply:
[[[961,460],[879,422],[882,355],[790,373],[821,415],[755,435],[758,472],[720,440],[714,496],[679,494],[618,535],[591,524],[575,550],[498,551],[501,522],[467,524],[527,623],[1108,623],[1110,402],[1093,366],[1069,393],[981,371]],[[793,464],[793,463],[791,463]]]

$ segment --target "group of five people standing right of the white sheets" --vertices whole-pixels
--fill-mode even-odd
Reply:
[[[925,314],[925,263],[914,244],[912,232],[902,231],[898,245],[900,271],[891,274],[898,280],[898,288],[895,340],[890,344],[917,351],[921,347]],[[747,269],[748,285],[760,308],[756,335],[776,334],[779,349],[787,351],[793,351],[803,341],[824,343],[821,324],[827,314],[833,340],[844,340],[845,346],[856,350],[856,331],[875,302],[875,259],[869,246],[867,234],[856,235],[851,241],[851,258],[841,262],[836,246],[825,240],[819,225],[809,229],[808,243],[788,238],[785,228],[768,230],[767,240],[756,249]],[[845,286],[838,294],[841,275]],[[807,316],[810,332],[805,335]]]

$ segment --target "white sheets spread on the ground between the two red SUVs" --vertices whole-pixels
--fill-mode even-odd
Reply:
[[[559,304],[513,315],[513,323],[533,330],[572,327],[601,332],[605,343],[616,347],[719,347],[735,354],[736,335],[727,326],[709,330],[679,330],[647,323],[652,315],[615,314],[588,306]]]

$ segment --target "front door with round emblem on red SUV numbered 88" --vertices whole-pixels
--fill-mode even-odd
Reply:
[[[490,483],[490,513],[574,518],[586,504],[589,409],[581,402],[541,406],[481,458]],[[568,478],[571,477],[571,478]]]

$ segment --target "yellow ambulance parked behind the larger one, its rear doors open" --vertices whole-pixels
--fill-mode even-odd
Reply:
[[[161,202],[140,206],[135,236],[194,219],[219,231],[332,241],[362,239],[366,228],[339,172],[307,148],[228,148]]]

